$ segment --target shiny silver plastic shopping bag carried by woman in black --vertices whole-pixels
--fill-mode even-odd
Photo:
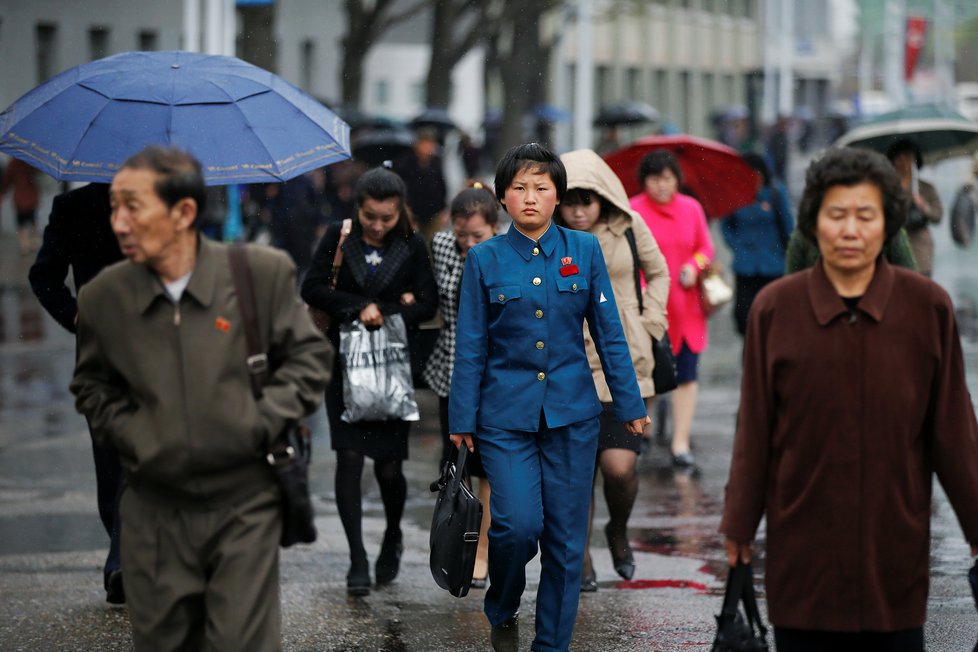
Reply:
[[[411,379],[411,347],[400,315],[385,315],[383,326],[376,329],[359,320],[342,324],[340,356],[343,421],[420,420]]]

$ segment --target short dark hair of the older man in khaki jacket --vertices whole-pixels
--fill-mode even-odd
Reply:
[[[197,203],[197,217],[207,208],[207,186],[200,161],[182,149],[149,145],[127,158],[120,169],[155,172],[153,190],[167,208],[173,208],[181,199]],[[196,226],[195,219],[192,227]]]

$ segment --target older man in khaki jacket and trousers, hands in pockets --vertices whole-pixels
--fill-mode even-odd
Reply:
[[[264,455],[319,403],[329,345],[295,298],[288,257],[249,247],[270,367],[256,401],[227,248],[197,233],[200,164],[149,147],[115,175],[111,202],[129,260],[79,294],[71,391],[127,474],[134,648],[277,650],[281,514]]]

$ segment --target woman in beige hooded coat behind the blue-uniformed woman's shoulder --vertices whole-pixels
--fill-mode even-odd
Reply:
[[[661,338],[667,326],[669,270],[666,260],[645,221],[629,208],[628,195],[621,181],[600,156],[592,150],[580,149],[568,152],[560,159],[567,168],[567,193],[560,203],[557,222],[568,228],[588,231],[598,238],[615,291],[618,314],[625,329],[639,389],[648,404],[655,394],[652,383],[652,338]],[[630,235],[634,237],[637,261],[629,243]],[[645,279],[644,290],[635,284],[636,264]],[[638,437],[625,432],[621,422],[615,419],[611,409],[611,392],[605,382],[594,343],[586,330],[584,337],[594,384],[605,407],[601,415],[597,463],[604,477],[604,494],[611,517],[604,531],[615,570],[623,578],[631,579],[635,572],[635,560],[628,543],[627,528],[638,492],[635,466],[641,442]],[[593,501],[591,516],[593,519]],[[591,556],[585,551],[581,590],[596,591],[597,588]]]

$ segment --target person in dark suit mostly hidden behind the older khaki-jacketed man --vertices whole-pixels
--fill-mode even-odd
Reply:
[[[44,309],[67,331],[76,332],[78,303],[66,281],[74,279],[75,291],[112,263],[122,260],[119,243],[109,224],[109,186],[90,183],[58,195],[44,229],[44,239],[31,266],[31,289]],[[111,445],[92,440],[98,513],[109,535],[109,554],[102,568],[105,599],[126,601],[119,565],[119,494],[123,475],[119,454]]]

